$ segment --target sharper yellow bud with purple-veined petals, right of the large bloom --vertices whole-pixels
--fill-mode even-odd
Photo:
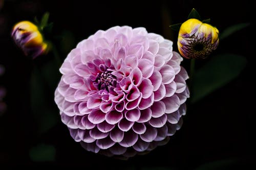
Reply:
[[[185,58],[206,58],[219,44],[219,31],[208,23],[191,18],[183,22],[178,36],[178,49]]]

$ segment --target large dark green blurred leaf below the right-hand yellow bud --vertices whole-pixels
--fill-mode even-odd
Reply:
[[[195,72],[191,103],[199,101],[239,76],[245,65],[246,59],[243,56],[235,54],[212,56],[210,61]]]

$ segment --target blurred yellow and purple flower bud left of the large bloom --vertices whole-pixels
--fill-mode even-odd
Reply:
[[[13,26],[11,36],[24,54],[33,59],[47,51],[47,43],[44,42],[37,26],[30,21],[18,22]]]

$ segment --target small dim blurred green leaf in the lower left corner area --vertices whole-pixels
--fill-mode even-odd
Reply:
[[[29,157],[35,162],[54,161],[56,155],[56,149],[53,145],[38,144],[29,151]]]

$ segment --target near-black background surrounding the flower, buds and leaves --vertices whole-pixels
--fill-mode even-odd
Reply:
[[[220,41],[215,53],[232,53],[247,59],[247,65],[236,79],[189,106],[182,128],[171,137],[168,144],[158,147],[144,156],[129,160],[117,160],[87,152],[69,135],[60,121],[53,101],[54,89],[44,89],[47,106],[56,120],[47,131],[41,132],[39,115],[31,109],[31,75],[53,59],[53,54],[31,60],[15,46],[10,37],[12,26],[20,20],[33,21],[46,11],[54,22],[53,33],[48,38],[56,42],[63,61],[69,51],[82,39],[97,30],[113,26],[145,27],[148,32],[163,35],[174,41],[177,51],[177,32],[169,25],[186,20],[195,8],[202,18],[211,18],[211,25],[220,33],[227,27],[250,22],[251,25]],[[255,152],[255,52],[252,11],[255,4],[249,0],[239,1],[14,1],[4,2],[0,11],[0,64],[6,68],[0,83],[7,90],[4,101],[7,111],[0,115],[0,164],[8,166],[82,167],[106,169],[145,169],[166,167],[168,169],[195,169],[209,164],[212,169],[246,169],[254,166]],[[63,36],[65,35],[65,36]],[[63,40],[61,37],[66,37]],[[200,67],[206,60],[200,60]],[[188,60],[181,65],[188,68]],[[52,69],[52,68],[51,68]],[[52,75],[59,79],[58,69]],[[58,79],[52,80],[57,86]],[[37,79],[38,80],[38,79]],[[39,78],[40,80],[40,78]],[[41,80],[43,84],[44,81]],[[49,83],[49,82],[48,82]],[[39,83],[40,84],[40,83]],[[47,84],[47,83],[46,83]],[[40,104],[38,96],[37,104]],[[49,115],[47,113],[46,115]],[[49,121],[48,119],[46,119]],[[52,161],[34,161],[31,148],[44,143],[53,145]],[[214,168],[215,166],[221,168]],[[209,168],[208,168],[209,169]]]

